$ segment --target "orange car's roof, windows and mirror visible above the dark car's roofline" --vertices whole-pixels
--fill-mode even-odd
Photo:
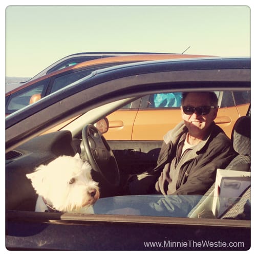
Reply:
[[[37,79],[33,79],[32,81],[28,81],[22,86],[7,92],[6,115],[22,109],[24,106],[34,103],[40,98],[68,86],[68,84],[91,74],[94,70],[138,61],[196,57],[206,57],[206,55],[139,54],[84,61],[77,65],[60,69]]]

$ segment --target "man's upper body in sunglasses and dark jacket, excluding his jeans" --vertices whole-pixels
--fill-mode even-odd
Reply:
[[[204,195],[217,168],[234,158],[230,139],[215,124],[214,92],[183,93],[183,121],[164,136],[157,166],[131,182],[131,194]]]

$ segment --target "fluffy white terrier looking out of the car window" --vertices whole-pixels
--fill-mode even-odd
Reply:
[[[27,174],[38,194],[35,211],[93,213],[99,199],[98,183],[92,180],[91,165],[75,157],[60,156]]]

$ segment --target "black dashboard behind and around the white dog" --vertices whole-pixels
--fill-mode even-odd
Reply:
[[[61,155],[74,156],[80,140],[69,131],[35,137],[6,154],[6,208],[34,210],[37,195],[26,174],[40,164],[48,164]]]

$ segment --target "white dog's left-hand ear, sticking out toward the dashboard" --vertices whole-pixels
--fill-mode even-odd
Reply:
[[[27,174],[26,177],[31,180],[32,186],[36,190],[38,195],[44,194],[43,190],[45,191],[45,165],[39,165],[34,173]]]

